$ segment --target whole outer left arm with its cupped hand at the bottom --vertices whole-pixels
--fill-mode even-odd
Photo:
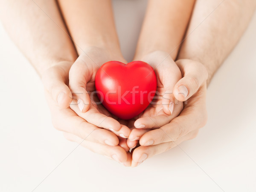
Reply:
[[[79,143],[82,140],[81,145],[91,151],[124,165],[128,161],[129,166],[131,155],[127,153],[126,141],[116,134],[119,135],[122,130],[126,130],[128,132],[122,133],[129,135],[130,129],[107,117],[107,114],[102,114],[101,121],[93,125],[85,120],[86,117],[79,117],[69,107],[72,102],[72,94],[68,87],[70,67],[79,60],[76,60],[78,55],[57,3],[54,0],[3,0],[0,3],[0,18],[12,40],[42,78],[54,127],[63,132],[68,140]],[[85,57],[93,58],[97,54],[107,55],[100,58],[102,60],[113,59],[108,52],[98,49],[88,48],[84,52],[85,56],[81,57],[84,60]],[[95,52],[97,54],[94,54]],[[86,115],[93,116],[95,111],[96,109],[88,111]],[[116,134],[107,128],[115,128]]]

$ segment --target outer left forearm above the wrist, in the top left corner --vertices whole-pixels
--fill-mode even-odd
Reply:
[[[76,59],[55,0],[3,0],[0,18],[39,75],[59,61]]]

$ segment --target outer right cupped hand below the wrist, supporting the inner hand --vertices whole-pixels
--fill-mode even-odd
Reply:
[[[146,132],[140,138],[141,146],[134,149],[131,166],[137,166],[147,158],[195,138],[198,130],[207,122],[207,70],[201,63],[193,60],[182,59],[176,63],[183,78],[176,83],[173,92],[177,100],[187,100],[187,104],[185,103],[180,115],[170,123]]]

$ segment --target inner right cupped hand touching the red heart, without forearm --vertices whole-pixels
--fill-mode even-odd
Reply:
[[[135,118],[137,120],[129,123],[133,127],[127,140],[130,148],[137,145],[145,132],[166,125],[183,109],[183,102],[175,100],[172,93],[175,84],[181,79],[180,69],[169,54],[155,51],[137,59],[147,62],[154,69],[157,76],[157,93],[147,109]]]

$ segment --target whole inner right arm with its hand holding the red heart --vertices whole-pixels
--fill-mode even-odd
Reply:
[[[194,2],[194,0],[148,2],[134,60],[143,60],[153,67],[157,75],[157,91],[160,92],[161,97],[156,105],[148,106],[139,116],[140,118],[134,122],[135,128],[141,126],[144,126],[143,129],[159,128],[177,117],[183,108],[183,103],[175,100],[173,95],[174,86],[181,79],[180,69],[174,60],[186,32]],[[133,129],[127,141],[128,146],[131,148],[136,146],[143,133],[145,130]]]

